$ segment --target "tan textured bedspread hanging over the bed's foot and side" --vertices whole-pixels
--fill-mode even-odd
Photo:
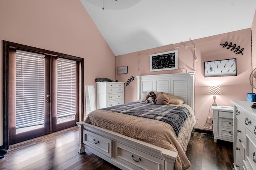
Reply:
[[[186,156],[186,149],[196,119],[190,106],[186,104],[180,106],[186,107],[191,116],[184,123],[178,137],[168,123],[113,111],[100,109],[92,111],[87,115],[84,122],[178,152],[174,167],[176,170],[181,170],[190,166]]]

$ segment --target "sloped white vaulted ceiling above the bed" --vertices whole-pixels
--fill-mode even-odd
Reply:
[[[116,56],[250,28],[256,9],[256,0],[81,2]]]

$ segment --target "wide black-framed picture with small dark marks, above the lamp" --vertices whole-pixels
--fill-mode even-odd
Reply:
[[[204,77],[236,76],[236,59],[204,62]]]

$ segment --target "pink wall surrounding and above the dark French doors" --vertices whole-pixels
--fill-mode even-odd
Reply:
[[[84,58],[84,85],[96,85],[95,78],[100,77],[115,79],[114,53],[80,0],[1,0],[0,23],[1,77],[6,40]],[[0,86],[2,110],[2,78]]]

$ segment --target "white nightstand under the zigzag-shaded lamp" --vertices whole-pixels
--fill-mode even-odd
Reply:
[[[233,107],[212,106],[213,111],[213,139],[233,142]]]

